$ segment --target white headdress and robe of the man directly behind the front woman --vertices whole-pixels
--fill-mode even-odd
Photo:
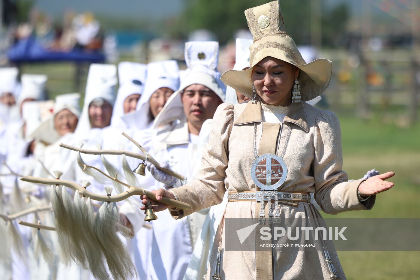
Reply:
[[[190,180],[199,166],[195,164],[199,137],[189,133],[181,91],[189,85],[208,87],[224,101],[225,86],[216,71],[218,42],[187,42],[185,58],[188,69],[175,92],[154,122],[157,134],[153,138],[153,153],[158,161],[167,160],[170,168]],[[155,188],[163,184],[156,182]],[[183,220],[174,220],[168,211],[157,214],[153,221],[153,239],[148,279],[180,279],[191,259],[193,245],[207,211]]]

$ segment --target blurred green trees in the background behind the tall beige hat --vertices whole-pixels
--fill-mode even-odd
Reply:
[[[289,34],[298,45],[310,44],[311,0],[281,1],[281,11]],[[209,29],[220,43],[234,40],[238,29],[248,29],[244,11],[268,0],[184,0],[184,11],[169,26],[176,37],[186,37],[196,29]],[[323,5],[322,44],[335,46],[345,34],[350,11],[345,3]]]

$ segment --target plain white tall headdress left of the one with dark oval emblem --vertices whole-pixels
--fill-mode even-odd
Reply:
[[[89,121],[89,105],[96,98],[103,98],[114,106],[115,87],[117,85],[117,67],[113,64],[91,64],[87,75],[86,92],[83,109],[77,123],[78,137],[87,135],[91,129]]]

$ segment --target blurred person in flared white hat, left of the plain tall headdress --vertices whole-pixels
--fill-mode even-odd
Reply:
[[[72,164],[73,151],[61,148],[73,137],[80,117],[80,93],[61,94],[55,97],[53,115],[35,132],[39,139],[51,143],[44,149],[34,169],[35,177],[51,177],[55,170],[67,170]]]

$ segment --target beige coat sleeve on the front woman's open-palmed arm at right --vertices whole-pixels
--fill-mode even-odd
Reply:
[[[342,169],[340,122],[331,111],[322,111],[315,119],[314,151],[315,200],[321,209],[327,214],[372,209],[375,195],[363,202],[357,198],[364,180],[348,182]]]

